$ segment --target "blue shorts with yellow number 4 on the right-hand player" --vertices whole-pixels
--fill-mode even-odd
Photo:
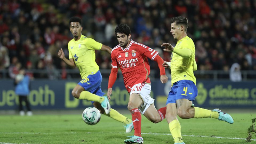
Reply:
[[[176,103],[177,99],[188,99],[194,101],[197,96],[197,87],[193,81],[181,80],[173,83],[171,91],[168,94],[166,105],[168,103]]]

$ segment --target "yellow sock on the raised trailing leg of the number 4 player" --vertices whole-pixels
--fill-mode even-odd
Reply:
[[[219,118],[219,113],[217,111],[211,111],[207,109],[202,109],[200,107],[194,107],[195,116],[194,118]]]

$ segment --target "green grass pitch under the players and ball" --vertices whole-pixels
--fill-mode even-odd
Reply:
[[[81,112],[82,113],[82,112]],[[86,125],[82,114],[73,115],[1,115],[0,144],[7,143],[79,143],[79,144],[120,144],[126,136],[123,123],[105,115],[94,126]],[[127,117],[131,115],[126,114]],[[181,132],[186,144],[234,144],[256,143],[255,134],[252,142],[245,142],[247,129],[256,117],[252,113],[231,113],[234,123],[229,124],[217,119],[179,119]],[[142,137],[146,144],[173,144],[166,120],[154,124],[142,116]],[[221,138],[218,138],[221,137]],[[238,139],[234,139],[238,138]]]

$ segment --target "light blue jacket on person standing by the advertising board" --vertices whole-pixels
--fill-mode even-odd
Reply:
[[[22,96],[27,96],[30,93],[29,90],[29,76],[25,75],[22,81],[20,81],[16,88],[15,88],[15,93],[17,95],[22,95]]]

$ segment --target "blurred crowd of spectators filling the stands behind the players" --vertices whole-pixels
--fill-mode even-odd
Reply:
[[[114,29],[126,23],[132,39],[161,53],[165,61],[170,53],[162,51],[163,42],[175,45],[170,34],[170,18],[187,17],[187,34],[196,48],[199,70],[228,71],[233,63],[241,70],[256,70],[255,0],[1,0],[0,70],[9,69],[15,77],[19,67],[47,70],[48,75],[31,77],[54,79],[54,70],[67,69],[57,53],[73,38],[69,18],[82,18],[82,34],[107,46],[118,41]],[[96,52],[100,69],[111,69],[108,53]],[[157,63],[150,62],[158,69]]]

